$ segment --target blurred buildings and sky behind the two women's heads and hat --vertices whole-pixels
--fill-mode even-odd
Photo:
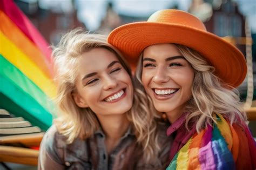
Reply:
[[[252,43],[256,40],[255,0],[15,0],[15,3],[53,45],[65,32],[77,27],[107,35],[117,26],[146,21],[157,10],[180,9],[196,15],[207,31],[225,38],[256,62],[256,45]],[[251,46],[247,53],[246,45]],[[256,64],[253,71],[256,73]],[[239,91],[245,99],[246,81]]]

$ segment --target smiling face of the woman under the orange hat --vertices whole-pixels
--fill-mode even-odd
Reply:
[[[143,52],[142,83],[159,112],[171,123],[191,98],[194,70],[173,44],[155,44]]]

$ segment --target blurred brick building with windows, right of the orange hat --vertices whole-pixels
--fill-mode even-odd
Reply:
[[[246,23],[246,16],[244,16],[240,10],[238,3],[232,0],[193,0],[190,6],[189,12],[196,15],[201,21],[204,22],[207,31],[214,33],[231,44],[237,46],[237,48],[244,54],[246,59],[253,57],[253,74],[256,76],[256,63],[255,53],[252,52],[252,35],[246,37],[246,30],[250,30],[248,23]],[[249,48],[246,45],[249,45]],[[253,46],[254,47],[254,46]],[[252,64],[252,63],[251,63]],[[248,67],[249,68],[249,67]],[[250,71],[250,69],[248,69]],[[253,79],[253,84],[256,83],[256,79]],[[238,87],[243,99],[247,96],[247,82],[248,77]],[[251,84],[252,85],[252,84]],[[256,98],[256,90],[252,90],[254,99]]]

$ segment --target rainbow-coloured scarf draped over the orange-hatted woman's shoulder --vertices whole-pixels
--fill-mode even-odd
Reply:
[[[217,123],[194,134],[174,156],[170,169],[255,169],[256,145],[248,127]]]

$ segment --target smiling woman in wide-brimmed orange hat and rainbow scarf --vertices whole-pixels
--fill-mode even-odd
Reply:
[[[136,79],[173,137],[167,169],[255,169],[256,145],[235,87],[242,53],[190,13],[160,10],[113,30],[108,42],[136,67]]]

